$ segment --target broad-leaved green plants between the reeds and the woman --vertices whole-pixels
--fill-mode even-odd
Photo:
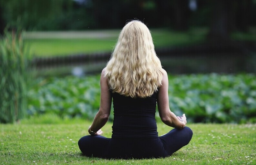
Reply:
[[[92,119],[99,108],[99,79],[100,76],[39,78],[28,93],[28,114]]]

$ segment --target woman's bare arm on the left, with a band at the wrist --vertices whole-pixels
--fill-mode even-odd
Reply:
[[[91,133],[93,131],[96,135],[100,135],[102,133],[100,129],[107,123],[110,114],[112,96],[108,88],[107,77],[105,77],[105,69],[102,70],[100,77],[100,107],[88,129],[90,134],[93,134]]]

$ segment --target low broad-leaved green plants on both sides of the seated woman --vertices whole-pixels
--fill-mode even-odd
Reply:
[[[37,79],[28,93],[29,114],[93,119],[100,102],[99,79],[99,75]],[[169,76],[169,106],[176,115],[185,113],[190,122],[255,123],[256,76]]]

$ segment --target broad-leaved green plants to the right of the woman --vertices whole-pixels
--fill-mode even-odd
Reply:
[[[256,122],[256,76],[170,76],[169,103],[171,110],[193,122]]]

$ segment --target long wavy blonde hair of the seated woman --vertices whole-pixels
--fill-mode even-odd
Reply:
[[[131,21],[123,27],[105,76],[113,92],[132,98],[151,96],[161,86],[161,62],[144,23]]]

